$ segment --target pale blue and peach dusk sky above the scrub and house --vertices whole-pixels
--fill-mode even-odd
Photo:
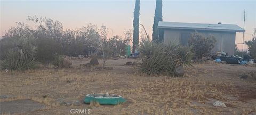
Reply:
[[[134,1],[1,1],[1,36],[15,22],[25,22],[28,15],[58,20],[64,29],[76,29],[88,23],[102,24],[110,35],[123,36],[124,29],[132,29]],[[190,23],[237,24],[243,28],[246,9],[245,40],[251,39],[256,28],[256,1],[166,1],[163,0],[163,21]],[[151,35],[155,1],[140,2],[140,23]],[[141,30],[142,28],[140,28]],[[242,43],[242,33],[236,43]]]

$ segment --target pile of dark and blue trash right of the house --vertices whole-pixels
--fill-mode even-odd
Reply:
[[[249,55],[244,55],[243,57],[237,55],[227,56],[225,52],[217,52],[212,56],[212,59],[219,62],[226,62],[227,64],[253,64],[253,59]]]

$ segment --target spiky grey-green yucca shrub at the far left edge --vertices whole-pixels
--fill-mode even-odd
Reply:
[[[35,68],[35,47],[27,38],[9,41],[9,49],[4,53],[1,69],[26,70]]]

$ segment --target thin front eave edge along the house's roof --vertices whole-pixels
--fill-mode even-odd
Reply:
[[[163,29],[187,29],[187,30],[206,30],[206,31],[228,31],[228,32],[245,32],[245,30],[230,30],[230,29],[211,29],[211,28],[183,28],[183,27],[165,27],[165,26],[158,26],[157,28]]]

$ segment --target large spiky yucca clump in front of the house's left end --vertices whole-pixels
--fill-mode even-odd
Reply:
[[[191,66],[190,47],[181,46],[179,44],[168,44],[150,42],[142,39],[138,47],[142,63],[139,63],[139,69],[148,75],[172,74],[173,70],[182,65]]]

